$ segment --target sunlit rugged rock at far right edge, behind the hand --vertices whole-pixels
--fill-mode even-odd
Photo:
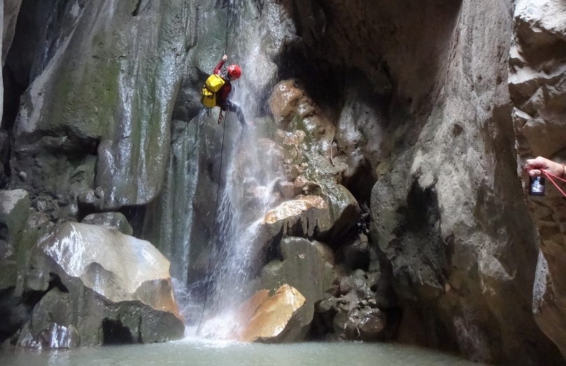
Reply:
[[[521,165],[535,156],[566,163],[564,13],[560,1],[516,3],[515,38],[509,52],[509,93]],[[546,185],[552,186],[548,180]],[[542,331],[566,355],[565,204],[561,193],[552,188],[542,198],[529,196],[527,203],[539,230],[541,250],[532,312]]]

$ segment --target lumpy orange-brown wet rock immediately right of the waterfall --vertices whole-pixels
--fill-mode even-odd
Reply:
[[[313,237],[316,231],[317,239],[331,242],[354,227],[361,214],[356,198],[340,184],[346,166],[333,160],[335,126],[292,80],[275,87],[269,105],[279,127],[275,142],[282,148],[282,168],[293,183],[292,193],[317,195],[328,206],[327,212],[319,208],[321,214],[310,220],[310,232],[305,234]]]

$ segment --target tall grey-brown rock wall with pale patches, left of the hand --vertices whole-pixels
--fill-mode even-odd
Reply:
[[[379,6],[393,14],[407,5],[398,4]],[[427,41],[419,43],[414,28],[393,27],[399,32],[396,39],[410,45],[407,52],[393,55],[383,43],[398,92],[382,138],[382,154],[388,149],[391,154],[382,155],[372,189],[371,238],[392,265],[396,293],[407,309],[403,314],[416,312],[402,319],[400,333],[409,330],[409,323],[419,328],[415,324],[426,319],[422,344],[453,349],[472,360],[560,364],[556,349],[525,312],[532,304],[537,245],[517,177],[514,146],[521,149],[522,138],[515,143],[509,98],[514,91],[506,83],[513,6],[510,1],[460,1],[444,2],[453,8],[442,10],[427,8],[431,4],[419,5],[426,8],[421,15],[438,10],[430,19],[442,23],[442,34],[427,34]],[[380,24],[388,27],[421,15]],[[429,63],[421,59],[424,54],[446,58]],[[396,68],[401,58],[416,67]],[[430,73],[422,80],[407,78],[421,70]],[[425,89],[429,92],[421,94]],[[530,339],[538,339],[537,344]]]

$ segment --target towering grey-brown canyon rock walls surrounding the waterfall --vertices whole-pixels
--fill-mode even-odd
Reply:
[[[329,210],[316,228],[302,228],[312,210],[277,221],[289,230],[266,229],[260,245],[273,252],[258,281],[285,277],[299,291],[308,284],[293,277],[303,272],[289,243],[333,251],[336,261],[316,259],[333,278],[305,294],[318,328],[302,336],[356,339],[339,321],[354,315],[336,304],[361,281],[356,311],[387,319],[372,340],[565,364],[563,199],[551,186],[525,198],[521,168],[532,156],[566,159],[559,1],[24,0],[3,10],[0,188],[24,189],[31,211],[17,210],[26,228],[0,217],[10,301],[37,291],[12,275],[29,272],[21,258],[40,242],[22,233],[100,213],[123,215],[128,234],[202,295],[222,154],[242,133],[198,102],[226,52],[244,70],[233,98],[265,134],[258,144],[280,152],[275,201]]]

